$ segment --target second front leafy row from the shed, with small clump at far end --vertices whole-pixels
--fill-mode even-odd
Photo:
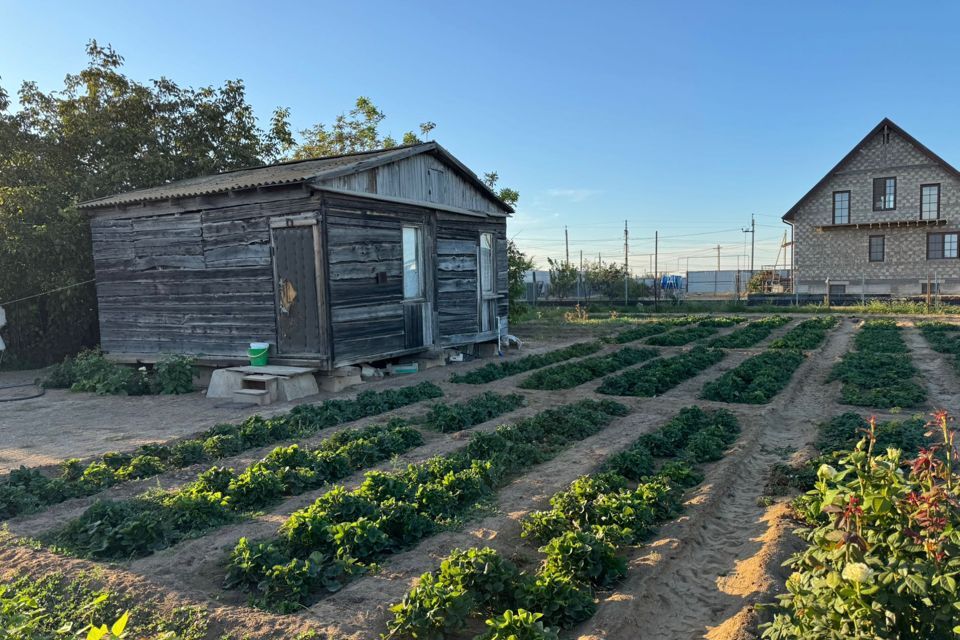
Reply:
[[[440,431],[459,431],[513,411],[517,394],[483,393],[459,405],[438,403],[424,418]],[[98,501],[48,536],[70,553],[95,558],[148,555],[423,444],[406,421],[345,429],[316,448],[277,447],[241,472],[212,467],[175,490],[152,490],[129,500]]]

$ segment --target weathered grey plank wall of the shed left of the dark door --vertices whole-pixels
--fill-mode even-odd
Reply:
[[[101,346],[132,354],[246,355],[276,340],[268,218],[319,208],[291,189],[269,203],[222,196],[203,211],[91,220]],[[158,209],[165,205],[156,205]]]

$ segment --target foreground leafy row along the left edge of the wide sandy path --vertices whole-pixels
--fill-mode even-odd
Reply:
[[[491,548],[454,550],[391,607],[389,637],[445,638],[493,616],[480,638],[542,640],[590,618],[596,590],[626,575],[625,550],[679,515],[684,490],[703,479],[693,465],[721,458],[739,430],[727,411],[682,409],[524,518],[522,537],[543,554],[535,571]],[[655,458],[666,459],[656,473]]]

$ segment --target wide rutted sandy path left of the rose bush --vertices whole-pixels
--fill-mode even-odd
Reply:
[[[823,380],[852,331],[849,322],[834,329],[769,405],[735,409],[744,427],[735,449],[709,468],[685,515],[633,560],[627,581],[575,636],[628,640],[638,629],[656,629],[664,640],[730,640],[742,633],[753,605],[777,584],[789,531],[783,505],[758,502],[769,469],[835,413],[836,385]]]

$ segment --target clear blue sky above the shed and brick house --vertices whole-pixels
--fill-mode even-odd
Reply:
[[[264,125],[368,96],[520,192],[508,234],[661,271],[784,262],[780,217],[882,118],[960,164],[960,3],[0,0],[0,86],[46,91],[90,39],[140,81],[244,80]]]

